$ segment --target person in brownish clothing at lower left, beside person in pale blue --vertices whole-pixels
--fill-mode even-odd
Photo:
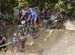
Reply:
[[[19,32],[19,39],[18,39],[18,50],[19,51],[23,51],[25,48],[25,42],[27,40],[26,35],[24,34],[24,32]]]

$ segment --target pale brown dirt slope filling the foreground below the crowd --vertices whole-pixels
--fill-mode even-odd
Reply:
[[[39,37],[28,38],[26,51],[11,52],[0,55],[75,55],[75,31],[72,30],[44,30]]]

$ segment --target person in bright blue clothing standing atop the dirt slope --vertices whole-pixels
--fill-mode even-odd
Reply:
[[[37,30],[37,20],[38,20],[38,12],[37,12],[37,8],[36,7],[31,7],[28,9],[28,11],[30,12],[29,16],[28,16],[28,21],[31,21],[31,24],[33,23],[34,20],[34,26],[35,26],[35,30]]]

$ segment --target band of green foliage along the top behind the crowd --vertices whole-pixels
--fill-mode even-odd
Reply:
[[[12,13],[12,8],[18,6],[19,8],[25,4],[30,6],[38,5],[40,8],[54,10],[56,8],[67,14],[75,14],[74,0],[1,0],[0,9],[7,10]]]

